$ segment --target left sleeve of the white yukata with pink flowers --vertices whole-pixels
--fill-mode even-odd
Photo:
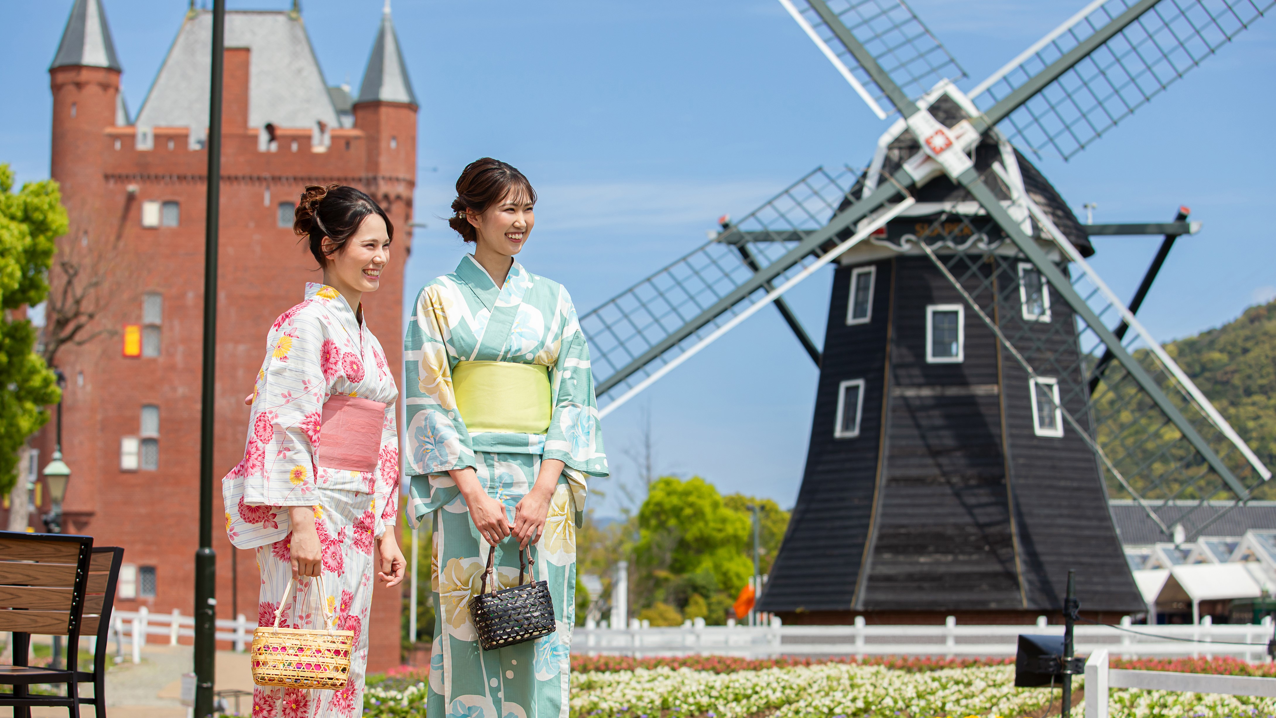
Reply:
[[[272,332],[240,468],[245,504],[314,504],[314,450],[328,397],[322,356],[330,346],[323,321],[309,312]]]

